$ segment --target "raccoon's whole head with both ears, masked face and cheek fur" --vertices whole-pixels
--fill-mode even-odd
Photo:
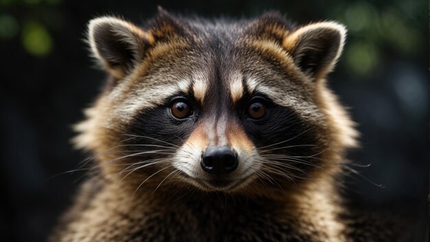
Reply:
[[[274,13],[234,22],[161,10],[144,28],[94,19],[89,43],[110,80],[76,144],[135,189],[262,195],[315,180],[355,144],[324,82],[345,34]]]

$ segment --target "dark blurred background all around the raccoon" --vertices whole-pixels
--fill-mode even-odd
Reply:
[[[72,149],[71,125],[98,94],[87,22],[117,14],[135,23],[157,5],[201,16],[257,16],[278,10],[297,23],[348,26],[346,49],[330,85],[359,123],[361,149],[350,154],[368,180],[351,174],[359,209],[407,211],[414,241],[425,241],[429,183],[428,2],[380,1],[62,1],[0,0],[1,241],[45,241],[71,197],[86,155]],[[54,178],[52,178],[54,176]],[[76,182],[78,180],[78,182]]]

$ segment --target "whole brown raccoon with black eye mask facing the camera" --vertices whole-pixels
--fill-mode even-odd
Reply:
[[[160,9],[88,28],[109,80],[74,142],[98,175],[51,241],[395,240],[354,228],[336,184],[357,147],[326,84],[346,27]]]

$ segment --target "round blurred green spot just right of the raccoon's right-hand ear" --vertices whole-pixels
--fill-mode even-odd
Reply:
[[[374,71],[379,59],[378,48],[372,43],[354,41],[346,50],[348,69],[359,75]]]

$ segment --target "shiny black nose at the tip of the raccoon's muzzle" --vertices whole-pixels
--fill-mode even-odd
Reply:
[[[201,155],[201,168],[207,173],[224,175],[238,168],[238,156],[227,146],[210,146]]]

